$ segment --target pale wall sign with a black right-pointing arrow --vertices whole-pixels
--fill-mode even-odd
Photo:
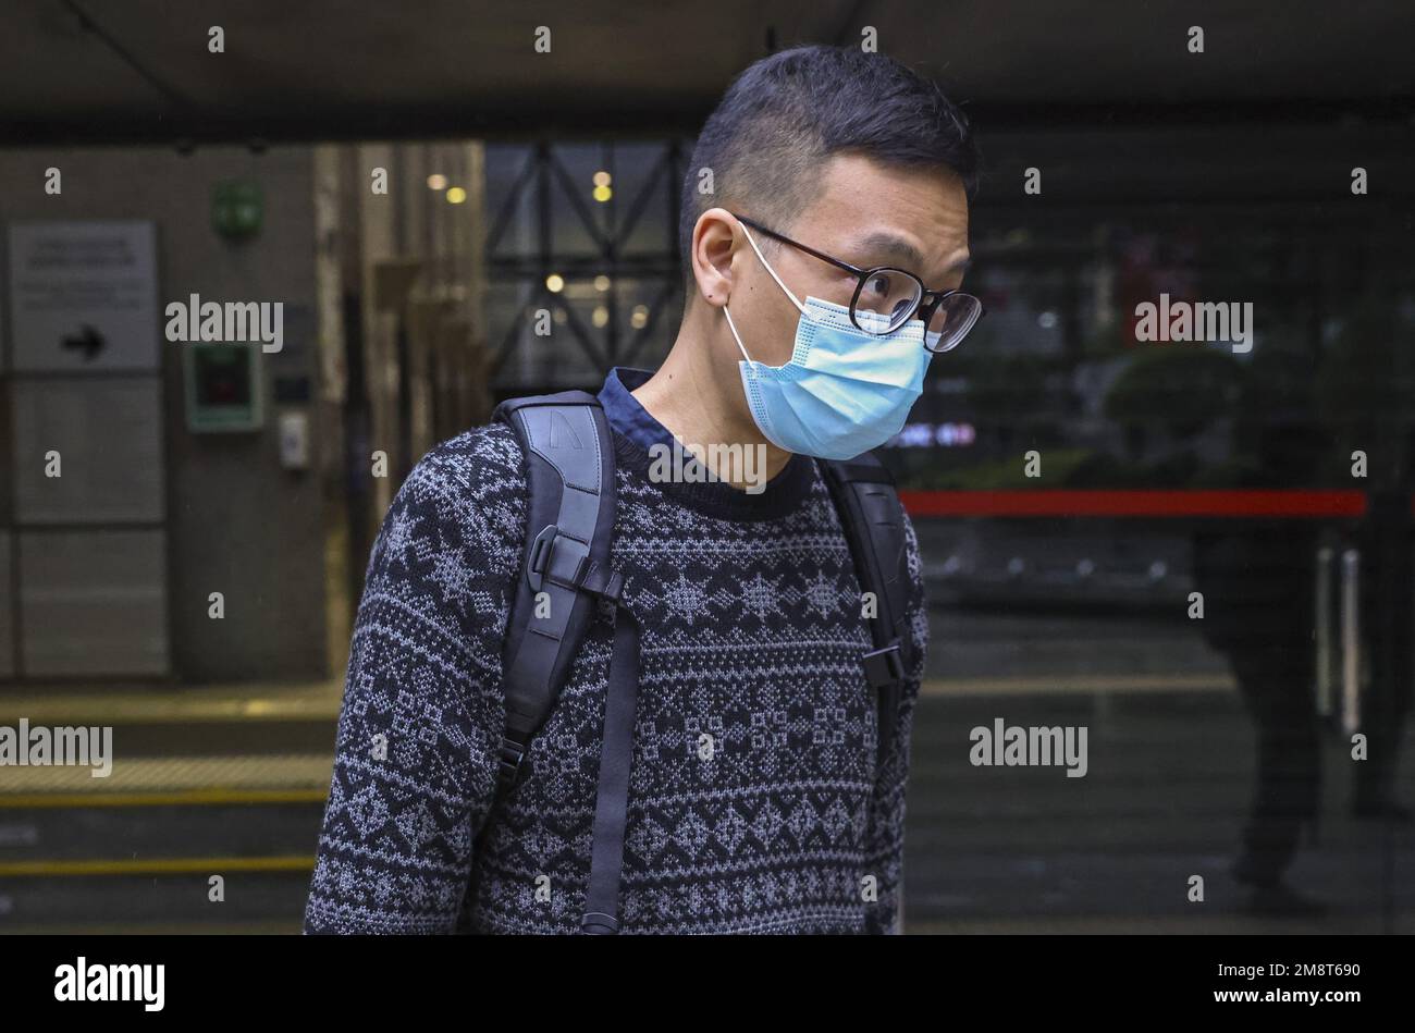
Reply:
[[[157,369],[153,224],[13,224],[10,328],[21,372]]]

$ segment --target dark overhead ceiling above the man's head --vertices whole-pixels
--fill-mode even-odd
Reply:
[[[865,25],[995,123],[1415,110],[1412,0],[6,0],[0,143],[692,133],[770,47]]]

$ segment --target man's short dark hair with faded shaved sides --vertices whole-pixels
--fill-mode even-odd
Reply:
[[[744,214],[790,232],[825,160],[841,153],[947,168],[962,180],[969,200],[978,191],[978,142],[938,83],[859,47],[780,51],[733,81],[693,146],[678,222],[689,297],[688,253],[699,215],[740,204]],[[712,194],[698,192],[703,168],[712,170]]]

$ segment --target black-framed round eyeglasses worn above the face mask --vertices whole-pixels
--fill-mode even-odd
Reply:
[[[729,212],[729,215],[767,236],[804,250],[812,258],[829,262],[836,269],[853,273],[857,282],[855,293],[850,296],[850,323],[866,334],[891,334],[918,316],[924,321],[924,347],[928,351],[942,352],[958,347],[958,342],[985,314],[982,301],[972,294],[965,294],[961,290],[930,290],[918,276],[907,269],[896,266],[860,269],[768,229],[756,219],[737,215],[737,212]]]

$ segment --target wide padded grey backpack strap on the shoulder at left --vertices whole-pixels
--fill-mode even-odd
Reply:
[[[526,550],[507,625],[507,727],[498,792],[515,783],[531,739],[545,723],[584,638],[596,597],[617,601],[610,572],[614,449],[599,400],[565,391],[502,402],[528,464]],[[548,606],[536,606],[536,596]],[[545,616],[539,616],[539,614]]]

